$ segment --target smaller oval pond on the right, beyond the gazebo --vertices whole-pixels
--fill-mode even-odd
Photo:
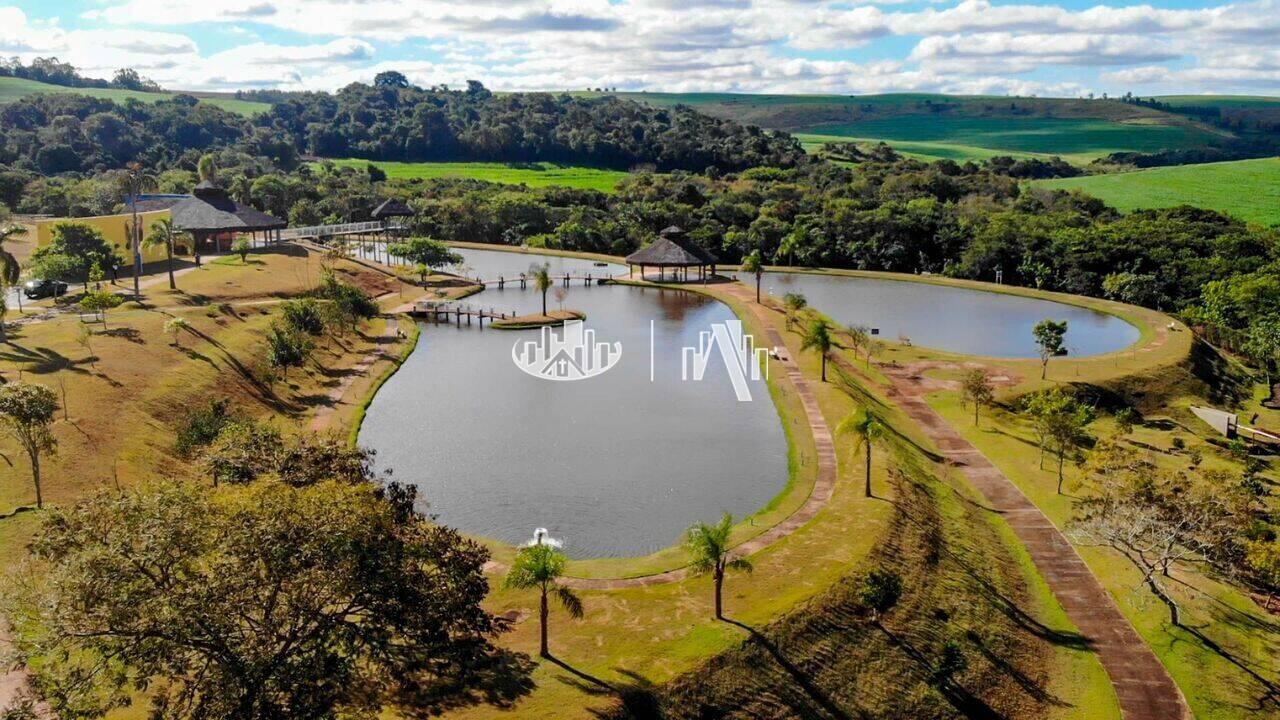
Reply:
[[[742,277],[740,274],[740,277]],[[746,282],[754,278],[745,277]],[[1123,350],[1138,341],[1138,328],[1106,313],[1050,300],[983,292],[931,283],[764,273],[760,288],[782,297],[805,296],[809,305],[845,325],[878,328],[879,338],[993,357],[1037,357],[1032,328],[1044,318],[1066,320],[1070,357]]]

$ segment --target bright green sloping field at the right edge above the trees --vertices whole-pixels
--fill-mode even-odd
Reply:
[[[1132,173],[1037,181],[1082,190],[1120,210],[1194,205],[1265,225],[1280,224],[1280,159],[1151,168]]]

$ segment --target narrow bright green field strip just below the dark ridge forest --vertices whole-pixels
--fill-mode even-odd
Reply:
[[[369,160],[333,160],[334,164],[349,168],[364,168]],[[576,165],[554,165],[552,163],[529,163],[507,165],[503,163],[372,163],[383,169],[389,178],[434,179],[434,178],[472,178],[506,184],[527,184],[547,187],[552,184],[599,190],[613,192],[620,179],[627,177],[622,170],[603,170]]]

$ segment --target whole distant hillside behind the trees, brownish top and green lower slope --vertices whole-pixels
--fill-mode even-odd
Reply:
[[[690,105],[714,117],[800,133],[810,149],[828,138],[883,140],[927,160],[1012,154],[1089,163],[1110,152],[1203,147],[1229,137],[1180,114],[1114,100],[928,94],[621,95],[655,106]]]

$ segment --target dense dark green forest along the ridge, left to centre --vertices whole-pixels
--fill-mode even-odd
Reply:
[[[101,172],[131,160],[189,167],[200,152],[234,149],[279,169],[298,158],[554,161],[659,172],[723,172],[804,160],[791,137],[616,97],[494,95],[413,87],[399,73],[337,94],[296,94],[246,118],[188,95],[157,102],[32,95],[0,110],[0,163],[45,176]]]

